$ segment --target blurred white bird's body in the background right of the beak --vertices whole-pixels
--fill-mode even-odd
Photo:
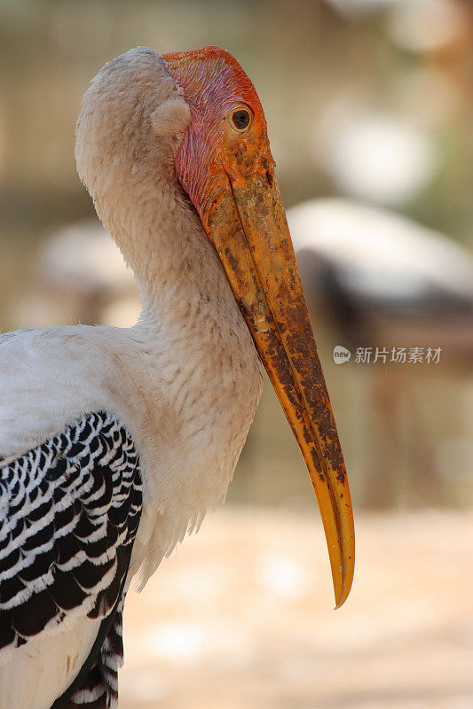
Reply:
[[[301,262],[314,254],[329,264],[354,307],[384,318],[471,316],[473,258],[438,231],[349,199],[304,202],[288,220]]]

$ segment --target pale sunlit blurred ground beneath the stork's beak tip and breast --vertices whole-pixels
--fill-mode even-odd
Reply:
[[[473,515],[357,518],[334,612],[316,515],[224,509],[125,613],[121,709],[473,705]]]

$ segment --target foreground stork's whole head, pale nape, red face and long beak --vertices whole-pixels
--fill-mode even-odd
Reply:
[[[152,174],[156,160],[161,171],[168,165],[217,249],[304,456],[338,607],[354,570],[350,490],[256,90],[236,59],[217,47],[162,56],[139,49],[104,67],[88,95],[76,158],[96,203],[92,156],[103,168],[100,146],[108,141],[115,160],[133,151],[134,171]],[[107,115],[116,105],[115,126],[97,110],[104,102]],[[130,133],[138,138],[127,140]]]

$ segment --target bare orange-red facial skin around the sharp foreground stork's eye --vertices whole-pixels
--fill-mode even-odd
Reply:
[[[226,114],[234,105],[248,104],[253,112],[252,129],[240,136],[239,143],[246,152],[245,172],[252,158],[266,156],[265,163],[272,162],[263,107],[247,74],[225,50],[204,47],[163,54],[161,62],[191,109],[191,123],[177,151],[175,168],[205,225],[225,176],[224,166],[238,171],[240,163],[243,168],[243,156],[233,154],[235,146],[231,150],[225,141]]]

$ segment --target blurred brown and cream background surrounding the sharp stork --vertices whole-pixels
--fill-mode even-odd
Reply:
[[[225,509],[130,594],[121,706],[473,706],[473,5],[0,0],[2,331],[138,316],[74,132],[88,82],[139,44],[220,45],[256,85],[358,566],[332,612],[311,486],[265,386]]]

